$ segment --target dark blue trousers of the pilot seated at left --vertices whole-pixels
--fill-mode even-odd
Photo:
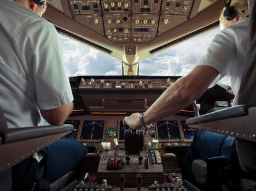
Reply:
[[[67,172],[78,168],[88,149],[77,140],[59,139],[43,148],[43,152],[46,156],[40,163],[30,156],[12,168],[12,190],[30,190],[41,165],[45,166],[43,179],[56,181]]]

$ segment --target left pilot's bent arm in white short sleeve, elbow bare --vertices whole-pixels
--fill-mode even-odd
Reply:
[[[28,36],[26,44],[33,47],[30,50],[33,76],[30,78],[34,84],[36,104],[48,123],[61,125],[73,108],[73,95],[64,70],[58,33],[51,23],[42,20],[29,35],[33,38]]]

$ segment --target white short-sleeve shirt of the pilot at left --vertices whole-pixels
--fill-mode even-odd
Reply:
[[[73,100],[54,25],[17,2],[0,4],[0,105],[8,128],[37,126],[39,109]]]

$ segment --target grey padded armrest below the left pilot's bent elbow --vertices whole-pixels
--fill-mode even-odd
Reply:
[[[72,131],[72,124],[62,124],[61,126],[36,126],[29,128],[9,128],[0,129],[2,144],[17,142],[20,140],[33,139],[37,137],[59,134],[61,132]]]

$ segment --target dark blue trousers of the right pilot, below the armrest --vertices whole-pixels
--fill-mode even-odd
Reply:
[[[223,148],[223,143],[228,136],[222,134],[217,134],[209,131],[198,130],[194,137],[194,140],[190,147],[187,149],[186,156],[183,160],[182,172],[185,179],[193,181],[192,173],[192,162],[196,159],[201,159],[207,161],[207,158],[214,156],[221,156],[221,149]],[[231,144],[228,150],[231,155],[231,161],[234,166],[238,166],[238,158],[236,152],[235,138],[231,138]]]

